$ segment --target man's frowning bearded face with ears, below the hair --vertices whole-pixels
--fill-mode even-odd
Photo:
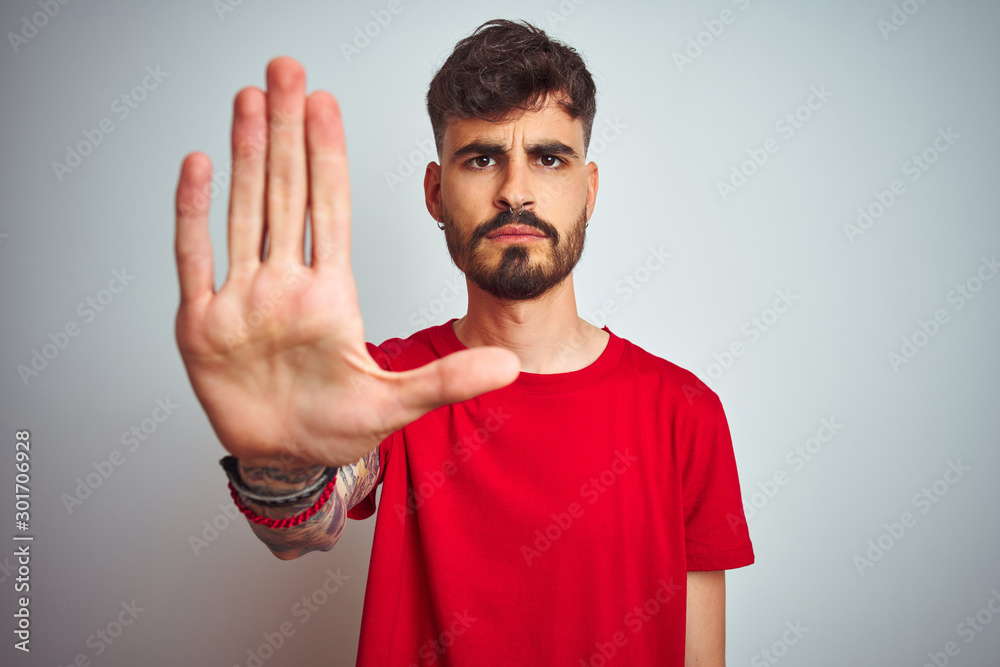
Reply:
[[[570,274],[597,195],[581,121],[551,98],[505,122],[453,119],[441,159],[425,179],[428,208],[443,220],[448,252],[474,284],[525,300]]]

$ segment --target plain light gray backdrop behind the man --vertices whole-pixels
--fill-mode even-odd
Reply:
[[[227,515],[224,451],[173,338],[174,188],[193,150],[227,183],[233,96],[291,55],[343,107],[367,338],[460,315],[423,204],[423,99],[498,7],[5,0],[3,664],[354,664],[374,519],[281,562]],[[727,409],[757,553],[728,575],[729,664],[997,665],[998,3],[503,16],[578,48],[598,82],[581,314]],[[220,284],[227,201],[219,188]],[[651,249],[670,258],[647,264]],[[12,633],[25,534],[30,656]],[[314,596],[330,573],[339,589]]]

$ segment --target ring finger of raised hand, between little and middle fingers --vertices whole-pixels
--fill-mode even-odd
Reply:
[[[267,95],[244,88],[233,102],[232,190],[229,196],[229,275],[256,269],[264,234],[267,178]]]

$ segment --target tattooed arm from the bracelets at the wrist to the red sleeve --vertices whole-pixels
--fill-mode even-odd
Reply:
[[[262,495],[282,495],[301,489],[316,481],[325,470],[322,465],[288,467],[280,470],[247,465],[240,461],[243,482]],[[310,551],[330,551],[340,540],[347,523],[347,510],[365,498],[378,481],[379,448],[365,454],[355,463],[341,466],[330,499],[315,515],[294,528],[268,528],[247,520],[250,529],[267,545],[277,558],[292,560]],[[291,505],[268,507],[252,500],[244,500],[247,507],[261,516],[281,519],[294,516],[311,506],[322,493]]]

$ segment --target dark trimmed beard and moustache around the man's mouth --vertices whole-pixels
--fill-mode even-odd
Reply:
[[[462,238],[458,226],[442,208],[444,236],[452,261],[477,287],[494,297],[508,301],[537,299],[566,279],[583,255],[586,239],[587,208],[584,206],[580,217],[561,236],[548,222],[540,219],[532,211],[501,211],[492,219],[482,223],[468,238]],[[546,236],[544,243],[532,242],[535,249],[522,244],[510,244],[503,248],[499,262],[482,247],[486,235],[506,225],[517,224],[533,227]],[[532,253],[540,255],[532,261]],[[496,264],[493,266],[492,264]]]

